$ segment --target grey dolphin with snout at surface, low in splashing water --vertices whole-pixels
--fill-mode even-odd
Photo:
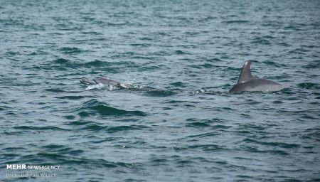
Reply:
[[[119,89],[127,89],[131,87],[131,85],[129,84],[124,84],[121,82],[110,80],[105,77],[97,77],[92,80],[88,79],[87,77],[82,77],[80,78],[80,82],[85,85],[96,85],[96,84],[102,83],[103,85],[112,85],[115,87],[119,87]]]

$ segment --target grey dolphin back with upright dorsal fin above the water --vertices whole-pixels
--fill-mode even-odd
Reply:
[[[238,83],[231,88],[229,92],[242,92],[242,91],[279,91],[284,89],[284,86],[257,77],[252,77],[250,70],[251,60],[247,60],[242,67]]]

